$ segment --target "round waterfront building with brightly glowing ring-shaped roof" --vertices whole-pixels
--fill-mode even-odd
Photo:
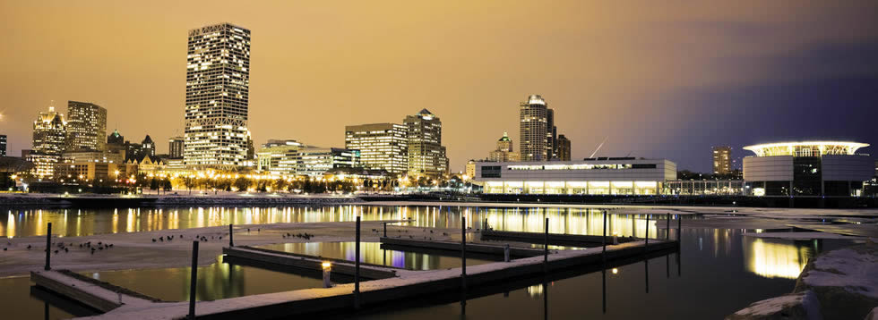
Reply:
[[[848,141],[780,142],[744,147],[744,181],[754,196],[858,196],[874,160]]]

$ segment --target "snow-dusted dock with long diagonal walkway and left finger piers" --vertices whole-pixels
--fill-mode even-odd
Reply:
[[[458,243],[457,246],[460,246]],[[469,246],[468,246],[469,248]],[[476,248],[476,247],[473,247]],[[524,257],[510,262],[495,262],[483,265],[467,266],[466,289],[479,291],[498,285],[498,283],[516,282],[535,276],[569,273],[571,270],[606,268],[623,261],[632,261],[641,257],[656,254],[667,254],[676,250],[674,240],[631,241],[603,248],[586,248],[580,250],[560,250],[544,257]],[[246,256],[260,261],[275,261],[278,264],[293,264],[305,261],[306,257],[297,257],[277,251],[255,250],[253,248],[228,248],[230,255]],[[316,261],[316,260],[315,260]],[[315,262],[314,261],[314,262]],[[309,262],[308,264],[310,264]],[[333,272],[338,265],[333,265]],[[313,265],[306,265],[307,268]],[[361,266],[366,273],[366,267]],[[388,268],[390,269],[390,268]],[[46,276],[50,274],[50,276]],[[70,299],[90,303],[107,313],[92,316],[94,319],[180,319],[188,314],[188,302],[159,302],[122,295],[121,302],[116,301],[119,294],[103,287],[94,288],[88,282],[77,281],[73,276],[61,273],[33,273],[31,278],[38,285],[44,286]],[[364,275],[365,276],[365,275]],[[49,281],[43,279],[50,279]],[[90,286],[82,290],[81,286]],[[395,276],[379,280],[359,283],[360,307],[374,307],[388,303],[401,303],[417,296],[448,295],[461,292],[463,289],[461,268],[430,271],[399,270]],[[199,301],[195,314],[202,319],[231,318],[277,318],[284,316],[313,315],[323,312],[343,313],[354,308],[354,284],[338,284],[331,288],[314,288],[297,291],[259,294],[253,296]],[[116,297],[116,300],[114,300]],[[92,301],[93,300],[93,301]],[[91,302],[88,302],[91,301]]]

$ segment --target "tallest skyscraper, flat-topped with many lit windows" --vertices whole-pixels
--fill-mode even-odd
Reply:
[[[247,163],[250,30],[220,23],[189,30],[184,163]]]

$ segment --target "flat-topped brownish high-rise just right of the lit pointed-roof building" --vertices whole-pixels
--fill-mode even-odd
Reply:
[[[67,101],[67,150],[106,149],[107,109],[90,102]]]

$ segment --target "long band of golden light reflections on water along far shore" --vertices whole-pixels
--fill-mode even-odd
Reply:
[[[549,218],[549,232],[602,234],[603,215],[599,209],[582,208],[478,208],[459,206],[297,206],[297,207],[192,207],[184,209],[20,209],[7,210],[0,218],[0,237],[45,235],[47,223],[52,233],[85,236],[97,233],[148,232],[167,229],[200,228],[228,223],[317,223],[352,222],[357,215],[364,221],[411,218],[417,227],[460,228],[461,216],[467,226],[495,230],[543,232]],[[653,218],[654,219],[654,218]],[[647,225],[645,215],[609,215],[607,235],[643,237],[649,229],[656,238],[655,220]]]

